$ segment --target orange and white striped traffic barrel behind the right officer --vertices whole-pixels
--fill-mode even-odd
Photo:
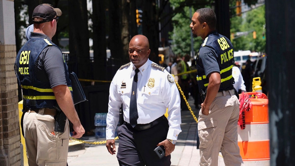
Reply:
[[[247,92],[255,95],[257,92]],[[245,111],[245,129],[238,125],[238,145],[245,166],[269,166],[269,120],[268,99],[265,94],[263,98],[251,98],[252,106]]]

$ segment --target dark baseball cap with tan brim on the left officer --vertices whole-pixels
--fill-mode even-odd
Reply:
[[[58,8],[53,8],[51,4],[40,4],[37,7],[35,7],[32,14],[32,20],[34,23],[41,24],[43,22],[52,20],[55,16],[59,17],[61,16],[61,14],[61,10]],[[35,17],[42,18],[43,20],[35,21]]]

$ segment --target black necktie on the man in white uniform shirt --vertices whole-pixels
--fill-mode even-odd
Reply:
[[[137,77],[138,77],[137,73],[138,72],[139,72],[139,69],[135,69],[135,75],[133,77],[131,97],[130,97],[129,117],[130,117],[130,124],[132,127],[136,126],[137,119],[138,119],[137,103],[136,103]]]

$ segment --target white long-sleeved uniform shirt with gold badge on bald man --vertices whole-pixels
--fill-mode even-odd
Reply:
[[[152,67],[152,61],[142,65],[137,81],[138,124],[154,121],[166,113],[168,108],[169,130],[167,139],[177,140],[181,132],[180,95],[173,77],[168,71]],[[114,139],[115,128],[119,121],[119,108],[123,103],[124,121],[129,121],[129,106],[132,79],[136,67],[129,66],[118,70],[109,89],[109,108],[106,118],[106,139]],[[169,81],[170,80],[170,81]]]

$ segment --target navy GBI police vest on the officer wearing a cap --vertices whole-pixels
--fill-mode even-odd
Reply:
[[[57,47],[44,38],[31,38],[17,53],[14,63],[14,71],[19,85],[22,87],[24,108],[54,108],[55,96],[49,82],[37,80],[37,63],[39,55],[44,48]],[[68,66],[64,60],[67,85],[71,91],[71,80],[69,79]],[[73,96],[73,95],[72,95]]]

